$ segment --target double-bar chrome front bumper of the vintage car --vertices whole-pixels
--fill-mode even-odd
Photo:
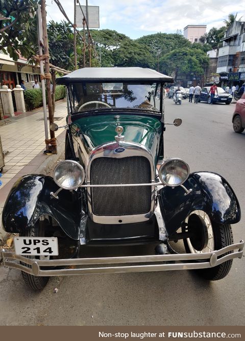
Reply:
[[[79,258],[63,260],[37,260],[29,259],[14,252],[3,250],[4,266],[27,272],[34,276],[69,276],[96,273],[119,273],[119,272],[145,272],[166,270],[190,270],[212,268],[233,258],[241,258],[244,242],[229,245],[223,249],[208,253],[177,253],[158,255],[139,255],[130,257],[108,257],[108,258]],[[237,251],[235,251],[237,250]],[[227,255],[224,253],[234,251]],[[19,264],[20,261],[25,265]],[[166,262],[173,262],[167,264]],[[141,263],[136,265],[135,263]],[[158,264],[149,264],[158,263]],[[110,266],[102,266],[102,265]],[[118,266],[115,266],[118,264]],[[122,266],[122,264],[127,264]],[[90,267],[80,267],[80,266]],[[91,267],[92,265],[92,267]],[[113,266],[112,266],[113,265]],[[68,269],[43,269],[45,267],[71,267]],[[99,267],[98,267],[99,266]]]

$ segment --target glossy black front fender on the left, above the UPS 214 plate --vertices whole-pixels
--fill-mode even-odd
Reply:
[[[72,239],[79,239],[81,207],[76,191],[62,190],[59,199],[50,192],[59,187],[53,178],[44,175],[21,177],[12,187],[3,209],[3,227],[6,232],[23,233],[42,215],[55,218]]]

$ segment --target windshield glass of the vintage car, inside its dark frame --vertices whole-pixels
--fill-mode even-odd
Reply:
[[[73,112],[94,109],[133,108],[160,111],[160,83],[76,83],[71,84]]]

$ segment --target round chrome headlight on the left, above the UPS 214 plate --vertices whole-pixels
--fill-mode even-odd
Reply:
[[[84,183],[85,171],[77,161],[65,160],[57,164],[53,178],[59,187],[75,189]]]

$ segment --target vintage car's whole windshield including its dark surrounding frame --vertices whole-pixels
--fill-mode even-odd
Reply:
[[[115,84],[115,88],[109,89],[110,84]],[[108,111],[108,109],[110,111],[124,109],[162,115],[163,84],[161,81],[120,81],[119,79],[71,82],[67,84],[70,113],[73,116],[94,111]]]

